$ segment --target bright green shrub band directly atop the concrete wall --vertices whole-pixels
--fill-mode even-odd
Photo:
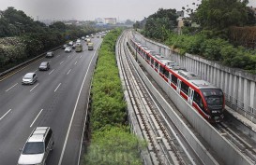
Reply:
[[[248,72],[256,73],[256,50],[235,48],[228,41],[219,37],[209,38],[208,32],[195,35],[169,34],[165,41],[173,50],[180,54],[186,52],[203,56],[205,59],[218,61],[224,65],[243,68]]]

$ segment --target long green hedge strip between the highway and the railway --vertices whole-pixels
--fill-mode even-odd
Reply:
[[[126,103],[115,61],[115,42],[121,30],[107,34],[98,52],[92,83],[91,143],[83,164],[142,164],[141,142],[129,133]]]

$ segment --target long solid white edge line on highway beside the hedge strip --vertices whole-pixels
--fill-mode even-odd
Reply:
[[[98,48],[98,47],[97,47],[97,48]],[[97,49],[97,48],[96,48],[96,49]],[[94,57],[95,57],[95,55],[96,55],[96,52],[97,52],[97,51],[94,52],[93,58],[91,59],[91,62],[89,63],[89,66],[88,66],[88,69],[87,69],[87,71],[86,71],[86,74],[85,74],[85,76],[84,76],[84,78],[83,78],[83,83],[82,83],[82,86],[81,86],[81,88],[80,88],[79,94],[78,94],[78,96],[77,96],[77,101],[76,101],[76,104],[75,104],[75,107],[74,107],[74,110],[73,110],[72,117],[71,117],[70,122],[69,122],[68,132],[67,132],[67,135],[66,135],[65,143],[63,144],[63,148],[62,148],[62,151],[61,151],[61,156],[60,156],[58,165],[61,165],[61,163],[62,163],[62,158],[63,158],[63,156],[64,156],[64,151],[65,151],[65,149],[66,149],[66,145],[67,145],[67,142],[68,142],[69,131],[70,131],[70,129],[71,129],[71,124],[72,124],[72,122],[73,122],[73,119],[74,119],[74,116],[75,116],[75,113],[76,113],[77,104],[78,104],[78,101],[79,101],[79,98],[80,98],[80,95],[81,95],[81,92],[82,92],[82,89],[83,89],[83,84],[84,84],[85,78],[86,78],[86,76],[87,76],[87,74],[88,74],[89,68],[91,67],[91,64],[92,64],[92,62],[93,62],[93,59],[94,59]]]

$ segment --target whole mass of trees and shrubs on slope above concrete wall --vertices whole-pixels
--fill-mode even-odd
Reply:
[[[241,28],[231,27],[256,25],[256,18],[247,4],[248,0],[203,0],[200,5],[197,5],[197,9],[183,7],[190,17],[185,21],[182,34],[177,34],[173,31],[172,26],[163,23],[167,14],[158,14],[159,11],[161,11],[160,13],[171,12],[172,18],[175,20],[177,18],[175,10],[159,9],[157,13],[146,19],[143,34],[169,45],[173,51],[181,55],[186,52],[200,55],[205,59],[256,74],[256,50],[253,47],[244,48],[241,44],[239,46],[239,43],[247,41],[247,38],[243,37],[243,40],[240,41],[239,38],[237,39],[238,35],[231,37],[231,34],[239,33],[235,32],[236,29],[241,31]],[[193,5],[196,6],[195,3]],[[191,27],[190,25],[193,23],[198,23],[200,26]],[[137,27],[137,25],[140,23],[136,22],[134,26]],[[251,28],[244,28],[244,30],[246,29],[251,31]],[[245,34],[255,35],[250,32]],[[255,37],[250,36],[248,40]],[[233,38],[236,40],[234,41]],[[254,42],[255,48],[255,39],[250,42]],[[250,46],[253,46],[252,43]]]

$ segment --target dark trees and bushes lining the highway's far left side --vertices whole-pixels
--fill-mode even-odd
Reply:
[[[1,11],[0,15],[0,72],[56,48],[67,40],[96,31],[91,26],[78,27],[60,21],[48,27],[13,7]]]

